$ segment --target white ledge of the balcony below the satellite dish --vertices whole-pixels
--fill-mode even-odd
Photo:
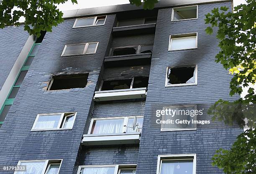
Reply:
[[[82,145],[113,145],[113,144],[138,144],[140,142],[141,134],[135,133],[121,133],[121,134],[84,134]]]

